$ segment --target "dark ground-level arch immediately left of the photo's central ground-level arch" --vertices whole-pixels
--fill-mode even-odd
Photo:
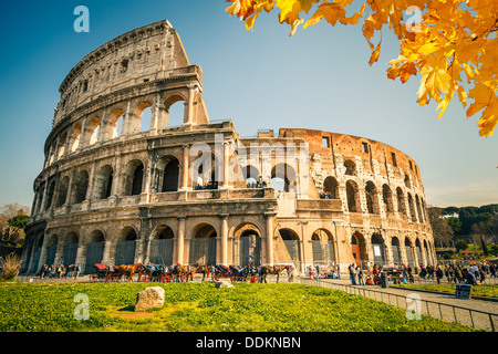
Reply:
[[[216,264],[216,229],[210,225],[197,227],[190,240],[190,264]]]

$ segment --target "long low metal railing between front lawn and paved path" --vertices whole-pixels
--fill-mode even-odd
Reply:
[[[373,288],[374,285],[346,285],[324,280],[299,278],[301,284],[322,287],[347,292],[350,294],[381,301],[401,309],[408,309],[408,296],[390,293]],[[413,300],[411,300],[413,301]],[[421,301],[421,314],[425,314],[445,322],[456,322],[476,330],[496,332],[498,313],[468,309],[464,306],[442,303],[430,300]]]

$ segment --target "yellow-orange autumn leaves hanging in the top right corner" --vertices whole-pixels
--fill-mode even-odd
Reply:
[[[324,19],[331,25],[356,24],[362,30],[372,55],[378,60],[382,30],[388,27],[400,41],[401,51],[390,61],[387,77],[402,83],[422,75],[417,102],[438,103],[439,118],[457,93],[467,117],[480,112],[479,135],[491,136],[498,124],[498,1],[488,0],[227,0],[226,9],[252,29],[258,15],[280,9],[279,22],[291,27],[293,35],[301,23],[312,27]],[[354,9],[354,7],[356,7]],[[313,10],[312,10],[313,9]],[[347,14],[347,10],[353,13]],[[404,22],[404,12],[419,11],[421,22]],[[311,14],[304,22],[302,17]],[[375,32],[381,40],[375,45]],[[464,79],[465,75],[465,79]],[[470,84],[474,86],[469,87]],[[470,101],[474,101],[470,103]]]

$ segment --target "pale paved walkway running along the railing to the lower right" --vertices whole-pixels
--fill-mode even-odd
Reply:
[[[414,289],[386,288],[380,285],[351,285],[346,279],[326,279],[321,281],[301,278],[301,283],[332,288],[357,295],[382,301],[402,309],[411,306],[415,310],[415,302],[407,299],[416,294],[421,299],[419,312],[447,322],[460,322],[485,331],[498,331],[498,302],[455,299],[453,294],[432,293]],[[456,320],[455,320],[456,319]],[[492,321],[492,323],[491,323]]]

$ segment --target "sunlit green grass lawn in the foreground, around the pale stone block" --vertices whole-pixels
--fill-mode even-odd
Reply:
[[[135,313],[136,294],[165,289],[162,309]],[[6,332],[461,332],[471,329],[344,292],[301,284],[0,283],[0,331]],[[90,319],[75,320],[84,293]]]

